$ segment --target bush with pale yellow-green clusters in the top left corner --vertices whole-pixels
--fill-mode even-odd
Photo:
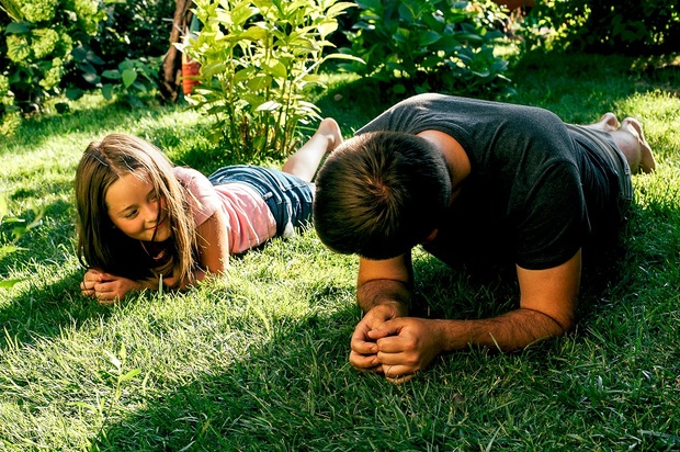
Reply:
[[[174,1],[0,0],[0,5],[7,14],[0,14],[0,135],[16,128],[20,112],[41,110],[52,95],[75,100],[98,88],[107,99],[117,94],[138,105],[139,94],[156,88]]]

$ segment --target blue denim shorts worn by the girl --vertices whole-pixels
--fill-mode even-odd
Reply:
[[[207,178],[213,185],[245,183],[258,192],[276,219],[276,236],[294,235],[294,227],[311,221],[314,184],[287,172],[251,165],[224,167]]]

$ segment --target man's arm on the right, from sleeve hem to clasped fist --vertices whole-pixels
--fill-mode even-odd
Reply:
[[[483,346],[500,350],[524,348],[564,335],[574,320],[580,284],[580,250],[567,262],[546,270],[518,267],[520,308],[479,320],[394,318],[367,332],[376,340],[376,361],[385,376],[404,382],[444,351]]]

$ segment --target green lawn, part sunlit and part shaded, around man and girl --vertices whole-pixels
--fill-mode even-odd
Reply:
[[[658,171],[634,178],[617,261],[608,280],[587,275],[569,335],[444,355],[401,386],[349,365],[356,259],[313,230],[185,293],[114,307],[81,297],[71,182],[90,140],[137,134],[204,172],[229,157],[181,108],[131,112],[92,95],[27,121],[0,142],[12,215],[45,213],[27,250],[0,260],[2,278],[25,278],[0,291],[0,450],[680,450],[680,67],[528,56],[511,78],[512,102],[567,122],[641,117]],[[389,101],[333,77],[317,103],[350,135]],[[505,274],[468,278],[421,252],[415,270],[432,316],[517,304]]]

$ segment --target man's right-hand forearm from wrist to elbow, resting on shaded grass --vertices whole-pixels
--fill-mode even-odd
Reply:
[[[566,331],[549,316],[532,309],[517,309],[479,320],[435,320],[444,351],[473,346],[510,351]]]

